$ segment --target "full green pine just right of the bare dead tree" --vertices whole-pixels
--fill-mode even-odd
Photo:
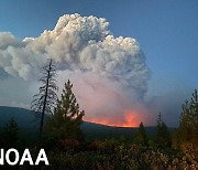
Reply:
[[[76,97],[72,92],[70,81],[65,83],[61,99],[57,102],[54,115],[46,121],[45,132],[50,139],[77,139],[82,140],[80,129],[84,110],[79,111]]]

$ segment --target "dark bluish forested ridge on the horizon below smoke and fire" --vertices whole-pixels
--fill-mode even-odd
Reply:
[[[26,131],[37,130],[37,124],[35,121],[34,113],[26,108],[0,106],[0,127],[3,127],[10,118],[14,118],[19,128]],[[96,123],[84,121],[81,129],[88,140],[107,139],[107,138],[132,138],[139,127],[117,127],[108,126]],[[173,131],[173,128],[169,128]],[[156,132],[156,127],[145,127],[145,131],[150,137],[153,137]]]

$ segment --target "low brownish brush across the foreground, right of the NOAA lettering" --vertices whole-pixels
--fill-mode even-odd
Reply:
[[[106,144],[106,142],[105,142]],[[109,142],[108,142],[109,144]],[[106,146],[106,145],[105,145]],[[107,148],[106,148],[107,149]],[[48,152],[48,169],[80,170],[196,170],[198,161],[178,150],[148,148],[138,145],[118,145],[105,152],[98,149],[78,151],[74,149]]]

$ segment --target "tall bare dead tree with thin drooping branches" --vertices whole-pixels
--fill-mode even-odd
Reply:
[[[42,86],[38,88],[38,94],[34,95],[31,109],[35,111],[36,118],[40,119],[40,141],[42,138],[43,124],[45,114],[53,114],[53,108],[57,102],[56,86],[56,67],[53,60],[50,59],[47,64],[42,68],[42,77],[40,82]]]

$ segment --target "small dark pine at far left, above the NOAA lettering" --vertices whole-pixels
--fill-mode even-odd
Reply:
[[[9,147],[15,147],[19,140],[19,127],[13,118],[6,124],[6,128],[3,130],[3,140],[4,145]]]

